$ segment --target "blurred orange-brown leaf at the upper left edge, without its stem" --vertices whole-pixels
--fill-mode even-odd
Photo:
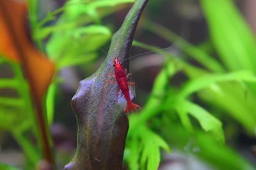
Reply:
[[[38,52],[26,29],[24,1],[0,0],[0,54],[20,62],[36,101],[41,101],[54,73],[54,64]]]

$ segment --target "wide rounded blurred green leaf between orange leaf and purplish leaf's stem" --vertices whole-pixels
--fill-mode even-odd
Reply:
[[[47,43],[47,53],[60,69],[94,59],[95,53],[90,52],[98,50],[110,38],[111,31],[101,25],[56,31]]]

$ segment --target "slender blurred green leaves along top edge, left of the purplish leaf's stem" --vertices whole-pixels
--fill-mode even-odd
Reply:
[[[29,0],[36,1],[36,0]],[[102,0],[102,1],[68,1],[65,6],[58,8],[55,11],[51,11],[51,15],[47,15],[40,23],[36,24],[35,30],[33,31],[33,38],[42,44],[42,39],[49,36],[52,32],[63,31],[67,29],[76,29],[89,24],[90,22],[95,22],[95,24],[100,23],[100,18],[105,17],[115,11],[121,10],[122,6],[118,8],[109,9],[108,6],[115,6],[117,4],[129,3],[134,0]],[[100,11],[97,10],[100,8]],[[58,14],[62,13],[61,17],[58,19],[58,24],[43,27],[47,22],[51,21],[54,17],[56,18]]]

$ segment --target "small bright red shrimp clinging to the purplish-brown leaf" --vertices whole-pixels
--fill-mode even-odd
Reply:
[[[127,83],[127,76],[125,75],[124,68],[122,67],[122,63],[116,58],[114,59],[113,66],[115,67],[116,81],[127,101],[127,105],[124,109],[124,112],[129,113],[132,111],[140,110],[141,107],[138,104],[132,103],[131,101],[131,97],[128,89],[128,83]]]

